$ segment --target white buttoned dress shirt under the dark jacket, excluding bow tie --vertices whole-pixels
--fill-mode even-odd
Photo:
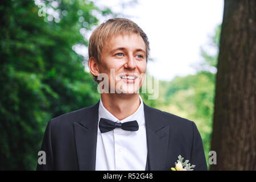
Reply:
[[[114,122],[127,122],[137,120],[138,131],[126,131],[114,129],[101,133],[98,127],[96,148],[96,171],[135,170],[144,171],[147,162],[147,138],[144,117],[144,106],[141,96],[141,104],[134,114],[119,121],[111,114],[100,100],[98,108],[98,122],[100,118],[110,119]]]

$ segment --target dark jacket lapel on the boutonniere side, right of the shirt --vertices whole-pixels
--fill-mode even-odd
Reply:
[[[148,148],[148,168],[164,170],[169,139],[169,126],[165,126],[156,109],[144,104]]]

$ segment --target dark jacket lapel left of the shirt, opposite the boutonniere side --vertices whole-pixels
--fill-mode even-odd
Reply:
[[[96,167],[99,103],[86,109],[81,120],[74,123],[77,160],[82,171],[94,171]]]

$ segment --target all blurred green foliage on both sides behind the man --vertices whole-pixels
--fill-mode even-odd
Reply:
[[[115,16],[91,1],[43,1],[59,13],[38,15],[31,0],[3,1],[0,5],[0,170],[36,167],[47,122],[53,117],[96,104],[100,99],[92,76],[84,71],[84,57],[75,44],[88,45],[80,28],[91,30],[102,16]],[[82,11],[81,13],[79,13]],[[83,18],[81,18],[83,17]],[[86,23],[85,23],[86,22]],[[213,43],[218,47],[218,31]],[[216,67],[217,55],[202,49],[203,65]],[[203,68],[203,66],[202,66]],[[195,121],[208,156],[212,129],[215,74],[201,69],[196,75],[160,81],[158,100],[146,104]]]

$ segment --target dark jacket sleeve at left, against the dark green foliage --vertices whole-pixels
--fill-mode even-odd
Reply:
[[[46,131],[44,132],[44,138],[41,146],[41,151],[46,152],[46,164],[39,164],[36,167],[36,171],[50,171],[54,170],[52,142],[51,142],[51,126],[52,121],[48,122]],[[40,157],[40,156],[39,156]]]

